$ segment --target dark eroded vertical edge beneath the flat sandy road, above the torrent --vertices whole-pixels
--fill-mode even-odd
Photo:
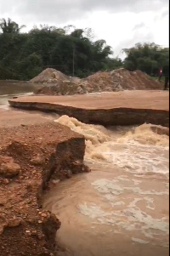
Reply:
[[[149,109],[128,109],[117,108],[111,110],[86,110],[73,108],[65,105],[53,105],[48,103],[11,103],[10,105],[27,110],[53,111],[59,115],[75,117],[81,122],[99,123],[108,125],[135,125],[144,122],[169,126],[168,111],[149,110]]]

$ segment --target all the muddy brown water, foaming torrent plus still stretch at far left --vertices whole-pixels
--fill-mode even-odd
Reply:
[[[26,93],[31,88],[11,94],[0,88],[0,105]],[[85,163],[92,169],[54,180],[44,196],[43,208],[61,221],[59,255],[167,256],[169,137],[149,124],[104,128],[67,116],[53,119],[85,136]]]

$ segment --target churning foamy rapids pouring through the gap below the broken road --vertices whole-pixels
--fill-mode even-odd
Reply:
[[[59,122],[86,139],[85,158],[94,162],[108,162],[124,171],[136,174],[169,173],[169,137],[156,134],[150,124],[133,128],[117,139],[115,132],[102,126],[79,122],[76,118],[62,116]]]

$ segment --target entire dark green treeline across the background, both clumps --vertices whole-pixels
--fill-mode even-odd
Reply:
[[[127,57],[122,61],[111,57],[105,40],[94,41],[91,29],[44,25],[23,33],[23,27],[0,20],[0,79],[29,80],[47,67],[77,77],[122,66],[156,75],[159,68],[168,67],[169,49],[155,43],[123,49]]]

